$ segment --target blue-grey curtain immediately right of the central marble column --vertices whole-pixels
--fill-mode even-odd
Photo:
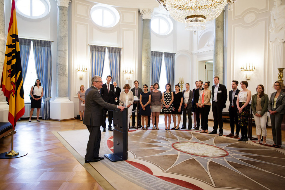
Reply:
[[[159,82],[162,54],[163,52],[160,51],[151,51],[151,84]]]

